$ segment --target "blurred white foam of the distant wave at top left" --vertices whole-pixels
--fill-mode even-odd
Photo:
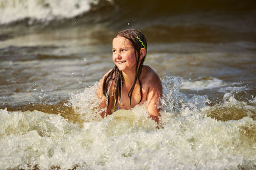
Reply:
[[[49,21],[52,19],[72,18],[90,10],[90,4],[98,0],[2,0],[0,1],[0,24],[8,24],[24,18],[30,21]]]

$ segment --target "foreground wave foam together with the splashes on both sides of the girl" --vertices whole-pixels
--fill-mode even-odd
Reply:
[[[84,119],[83,127],[60,115],[0,110],[0,169],[29,169],[28,166],[35,165],[40,169],[52,166],[252,169],[255,166],[255,120],[244,117],[221,122],[205,117],[205,111],[216,107],[236,106],[255,113],[255,106],[237,101],[232,94],[226,94],[223,103],[206,106],[206,96],[188,99],[179,92],[180,78],[165,77],[162,81],[163,129],[154,128],[156,123],[147,119],[144,105],[130,111],[120,110],[104,119],[94,118],[100,113],[95,110],[99,102],[95,100],[95,87],[72,94],[70,99],[76,114]]]

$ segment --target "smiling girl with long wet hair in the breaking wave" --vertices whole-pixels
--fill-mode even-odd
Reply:
[[[102,118],[119,109],[129,110],[147,102],[150,118],[159,121],[162,85],[159,76],[143,62],[147,57],[147,40],[135,29],[120,31],[113,39],[113,62],[115,67],[99,82],[97,95],[105,108]]]

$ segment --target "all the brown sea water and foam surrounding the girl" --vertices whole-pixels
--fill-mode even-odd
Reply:
[[[252,1],[13,0],[0,14],[0,169],[256,168]],[[99,116],[112,38],[131,27],[164,87],[160,125],[144,105]]]

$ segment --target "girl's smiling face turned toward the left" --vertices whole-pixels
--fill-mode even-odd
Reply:
[[[120,71],[134,71],[136,57],[131,41],[122,36],[113,39],[113,61]]]

